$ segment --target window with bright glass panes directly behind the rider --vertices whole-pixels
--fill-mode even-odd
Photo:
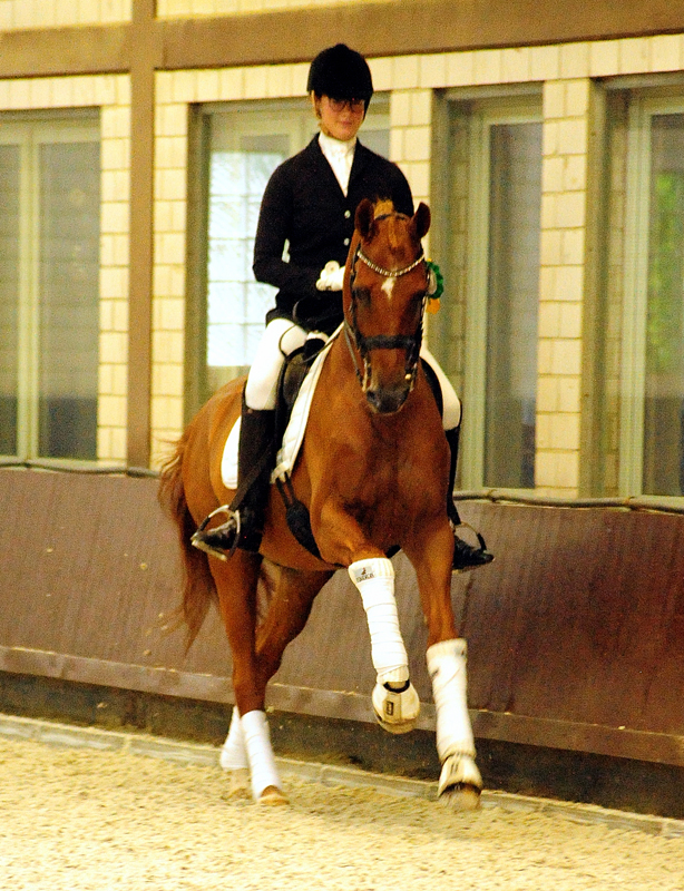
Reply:
[[[206,253],[195,262],[198,321],[188,332],[190,368],[201,382],[188,394],[193,411],[219,385],[246,373],[274,305],[275,290],[252,273],[254,236],[266,183],[275,167],[300,151],[317,133],[307,100],[250,102],[204,108],[195,121],[202,134],[196,153],[203,160]],[[387,98],[374,96],[360,133],[361,141],[389,151]]]

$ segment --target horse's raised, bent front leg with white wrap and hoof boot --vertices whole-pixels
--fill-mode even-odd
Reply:
[[[322,512],[321,556],[329,562],[348,567],[355,585],[371,636],[371,658],[377,672],[372,704],[375,716],[390,733],[413,730],[420,713],[420,701],[409,678],[409,658],[404,647],[397,599],[394,568],[384,554],[365,538],[359,523],[332,501]],[[319,540],[319,535],[316,536]]]

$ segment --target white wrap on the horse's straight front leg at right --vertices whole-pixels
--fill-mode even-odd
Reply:
[[[467,644],[460,637],[428,647],[428,672],[437,709],[437,753],[442,763],[455,754],[475,757],[467,702]]]

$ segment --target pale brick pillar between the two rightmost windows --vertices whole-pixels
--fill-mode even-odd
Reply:
[[[596,278],[594,89],[588,78],[544,87],[536,488],[566,498],[583,488],[584,334]]]

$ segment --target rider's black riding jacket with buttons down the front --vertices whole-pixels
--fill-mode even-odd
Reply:
[[[319,291],[316,282],[329,261],[341,266],[346,262],[354,213],[363,198],[391,198],[397,210],[413,215],[411,189],[399,167],[358,140],[346,196],[317,136],[273,172],[261,205],[253,265],[257,282],[280,288],[267,322],[293,319],[328,333],[338,327],[342,292]],[[285,242],[290,262],[283,260]]]

